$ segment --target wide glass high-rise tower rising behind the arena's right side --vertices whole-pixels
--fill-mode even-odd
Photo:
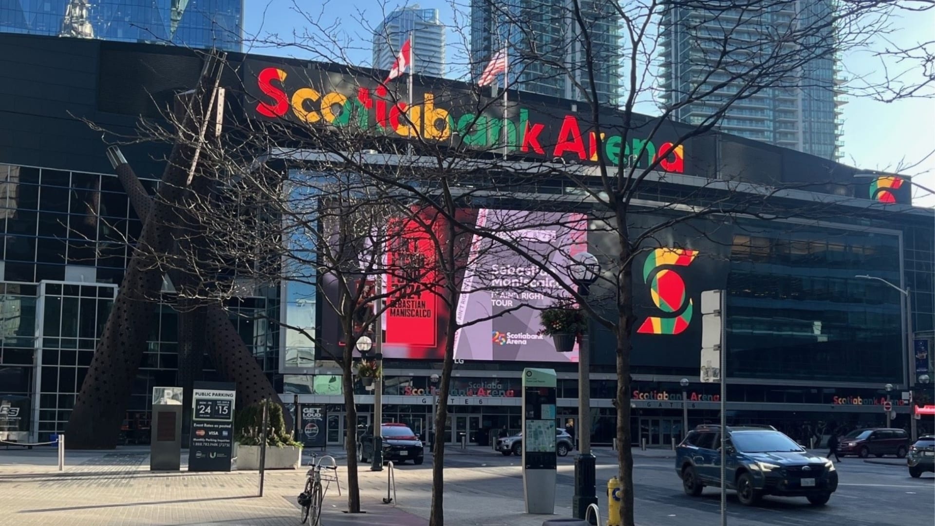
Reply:
[[[731,41],[729,46],[755,53],[765,60],[776,54],[776,48],[764,27],[772,28],[769,35],[801,34],[801,26],[823,28],[833,16],[832,9],[831,0],[781,3],[755,12],[669,7],[663,15],[659,42],[659,87],[663,105],[671,107],[699,85],[706,90],[721,82],[730,82],[725,72],[712,71],[710,66],[716,64],[723,53],[720,46],[725,39]],[[751,92],[746,82],[728,85],[704,100],[679,108],[673,116],[684,123],[701,124],[737,95],[738,90],[743,90],[745,93],[726,110],[718,124],[720,129],[826,159],[839,159],[843,146],[840,124],[844,100],[836,89],[840,65],[833,49],[833,31],[833,26],[827,24],[827,29],[817,29],[800,38],[796,45],[811,52],[818,50],[816,54],[821,56],[805,61],[783,79],[769,80],[770,87]],[[774,71],[789,62],[781,60],[785,62]]]

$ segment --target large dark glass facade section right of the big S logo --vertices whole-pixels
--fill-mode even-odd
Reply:
[[[727,279],[731,377],[899,383],[899,232],[744,222]]]

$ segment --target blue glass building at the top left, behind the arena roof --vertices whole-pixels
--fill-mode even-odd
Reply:
[[[243,0],[0,0],[0,31],[241,51]]]

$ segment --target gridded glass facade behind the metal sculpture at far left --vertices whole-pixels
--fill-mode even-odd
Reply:
[[[64,430],[141,230],[116,176],[0,165],[0,394],[31,399],[40,441]],[[152,387],[177,385],[178,314],[164,290],[127,404],[127,442],[149,440]],[[260,294],[225,307],[272,375],[278,292]],[[210,370],[205,379],[221,380]]]

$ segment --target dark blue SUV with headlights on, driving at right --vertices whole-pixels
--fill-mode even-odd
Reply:
[[[676,449],[675,470],[685,493],[698,496],[705,486],[720,488],[720,436],[720,426],[700,426]],[[821,505],[838,489],[838,472],[831,460],[813,456],[772,428],[728,427],[726,452],[726,487],[737,490],[741,504],[777,495],[807,497]]]

